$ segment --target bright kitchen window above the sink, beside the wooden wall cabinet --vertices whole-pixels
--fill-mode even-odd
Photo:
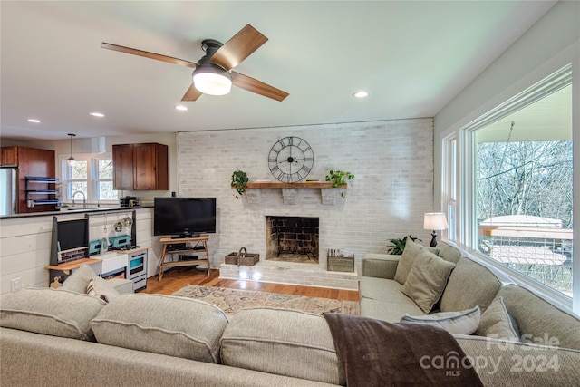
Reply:
[[[116,202],[119,198],[112,189],[111,154],[75,154],[76,161],[62,159],[64,202],[91,205]]]

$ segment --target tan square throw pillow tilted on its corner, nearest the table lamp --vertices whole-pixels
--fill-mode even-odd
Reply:
[[[402,286],[403,295],[409,296],[426,314],[437,304],[455,264],[445,261],[427,250],[420,250]]]

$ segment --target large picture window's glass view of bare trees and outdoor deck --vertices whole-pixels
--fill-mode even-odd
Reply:
[[[478,251],[571,296],[569,94],[562,89],[476,131],[476,206]]]

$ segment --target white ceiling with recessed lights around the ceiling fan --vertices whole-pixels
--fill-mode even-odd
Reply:
[[[0,2],[2,139],[63,140],[433,117],[554,1]],[[234,88],[173,106],[201,40],[252,24],[269,41],[236,67],[289,92]],[[370,96],[355,100],[353,92]],[[104,119],[89,115],[102,111]],[[42,120],[40,124],[28,118]]]

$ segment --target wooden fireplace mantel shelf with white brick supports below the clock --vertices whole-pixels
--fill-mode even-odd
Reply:
[[[232,187],[234,189],[235,187]],[[305,183],[283,183],[272,181],[256,181],[247,183],[246,193],[250,203],[260,203],[260,189],[281,189],[282,198],[285,204],[296,204],[295,189],[320,189],[321,201],[323,204],[334,204],[339,189],[346,189],[347,184],[333,187],[333,183],[326,181],[311,181]]]

